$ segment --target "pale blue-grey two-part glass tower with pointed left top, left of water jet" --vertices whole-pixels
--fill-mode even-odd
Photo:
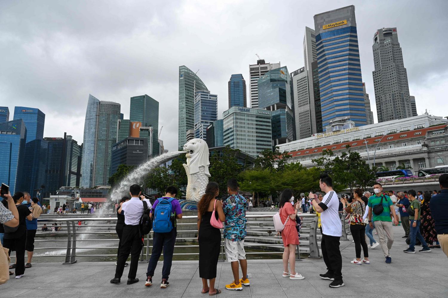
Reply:
[[[120,104],[100,101],[89,94],[82,148],[82,187],[107,185],[111,149],[116,143]]]

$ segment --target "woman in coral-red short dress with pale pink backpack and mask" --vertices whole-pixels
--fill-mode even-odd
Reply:
[[[291,204],[293,202],[293,190],[287,188],[283,190],[280,196],[280,219],[285,225],[283,231],[281,231],[281,238],[283,240],[283,277],[289,277],[289,279],[304,279],[302,274],[296,272],[296,246],[299,244],[299,235],[296,229],[296,216],[297,211],[300,208],[300,203],[297,202],[294,207]],[[288,263],[289,268],[288,270]]]

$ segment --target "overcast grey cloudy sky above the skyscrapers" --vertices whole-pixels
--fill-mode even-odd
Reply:
[[[255,53],[303,64],[313,16],[355,5],[362,78],[373,91],[372,37],[397,27],[418,113],[448,116],[448,1],[0,1],[0,106],[39,108],[45,137],[82,143],[89,93],[121,104],[147,94],[160,103],[161,139],[177,149],[178,68],[186,65],[227,109],[232,73],[249,78]],[[11,119],[12,119],[11,113]]]

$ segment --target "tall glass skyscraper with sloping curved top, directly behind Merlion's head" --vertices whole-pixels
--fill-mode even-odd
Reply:
[[[179,127],[177,146],[183,150],[187,143],[187,130],[194,130],[194,93],[207,86],[185,65],[179,66]]]

